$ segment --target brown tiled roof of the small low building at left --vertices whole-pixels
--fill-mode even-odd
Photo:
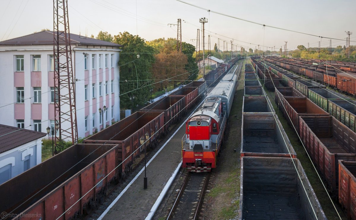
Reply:
[[[37,140],[38,138],[45,137],[46,135],[47,134],[43,132],[0,125],[0,153]]]

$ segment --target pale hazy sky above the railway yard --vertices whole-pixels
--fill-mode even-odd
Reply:
[[[310,33],[317,36],[344,39],[332,40],[333,47],[344,46],[345,31],[354,32],[351,41],[356,41],[355,0],[183,0],[211,11],[239,17],[274,27]],[[177,27],[167,25],[182,19],[182,41],[196,45],[199,18],[205,17],[205,42],[208,42],[209,30],[211,49],[220,40],[260,49],[281,48],[288,41],[288,49],[303,44],[305,47],[329,47],[329,39],[303,35],[254,23],[233,19],[208,12],[176,0],[68,0],[70,32],[96,36],[99,31],[108,31],[112,35],[128,31],[145,40],[160,37],[177,37]],[[137,11],[137,12],[136,12]],[[137,20],[136,20],[137,15]],[[186,22],[185,22],[186,21]],[[136,25],[137,22],[137,25]],[[52,0],[0,0],[0,41],[28,35],[43,28],[53,30]],[[219,34],[216,35],[215,33]],[[220,36],[222,35],[222,36]],[[225,43],[226,44],[226,43]],[[351,45],[355,45],[351,42]],[[205,46],[207,48],[207,44]],[[202,46],[201,46],[202,49]]]

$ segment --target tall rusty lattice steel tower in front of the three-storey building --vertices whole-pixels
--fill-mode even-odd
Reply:
[[[74,144],[78,127],[67,0],[53,0],[53,58],[55,123],[59,125],[59,138]]]

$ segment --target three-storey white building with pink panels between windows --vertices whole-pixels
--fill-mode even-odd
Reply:
[[[74,34],[70,39],[78,137],[86,137],[103,127],[99,108],[106,106],[106,125],[120,120],[122,46]],[[51,31],[0,42],[0,124],[42,132],[54,127],[53,68]]]

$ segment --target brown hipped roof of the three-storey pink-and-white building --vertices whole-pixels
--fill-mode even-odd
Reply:
[[[64,44],[63,36],[59,39],[59,43]],[[102,41],[90,37],[84,37],[80,35],[70,34],[71,44],[90,44],[100,46],[115,46],[122,47],[120,44],[111,43],[108,41]],[[25,35],[22,37],[13,38],[6,41],[0,41],[1,45],[40,45],[40,44],[53,44],[53,31],[41,31]]]

